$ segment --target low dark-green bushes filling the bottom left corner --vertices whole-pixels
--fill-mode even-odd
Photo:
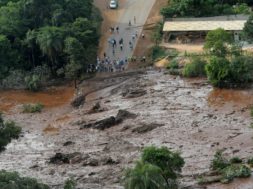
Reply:
[[[49,189],[49,186],[38,183],[36,179],[20,177],[17,172],[0,171],[1,189]]]

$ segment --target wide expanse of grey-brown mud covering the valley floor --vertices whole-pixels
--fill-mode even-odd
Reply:
[[[1,169],[38,178],[53,188],[62,188],[69,177],[79,188],[120,188],[122,171],[138,159],[144,146],[167,146],[180,151],[186,161],[183,187],[194,185],[194,176],[209,170],[217,149],[231,156],[252,156],[253,90],[214,90],[205,80],[184,80],[155,70],[100,76],[80,87],[96,92],[78,109],[66,101],[40,114],[20,113],[19,105],[5,114],[22,126],[23,136],[0,153]],[[0,102],[5,102],[3,97]],[[97,102],[101,112],[88,113]],[[120,109],[137,117],[105,130],[80,130],[116,116]],[[67,164],[50,164],[58,152],[78,153]],[[252,183],[250,178],[208,188],[245,189]]]

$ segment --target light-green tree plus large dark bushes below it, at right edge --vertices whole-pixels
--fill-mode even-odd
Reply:
[[[241,87],[253,81],[253,57],[243,54],[230,35],[217,29],[206,37],[204,47],[211,54],[207,77],[217,87]]]

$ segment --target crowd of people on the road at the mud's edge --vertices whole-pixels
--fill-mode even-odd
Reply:
[[[136,26],[136,17],[133,17],[133,23],[129,20],[128,26],[125,28],[118,25],[110,27],[110,37],[107,42],[106,52],[102,57],[97,57],[96,71],[97,72],[117,72],[124,71],[129,62],[146,61],[146,57],[132,56],[134,47],[139,37],[145,39],[144,33],[134,27]]]

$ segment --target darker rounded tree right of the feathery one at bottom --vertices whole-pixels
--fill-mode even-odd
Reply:
[[[177,152],[171,152],[167,147],[146,147],[142,153],[142,161],[158,166],[166,180],[175,180],[184,166],[184,160]]]

